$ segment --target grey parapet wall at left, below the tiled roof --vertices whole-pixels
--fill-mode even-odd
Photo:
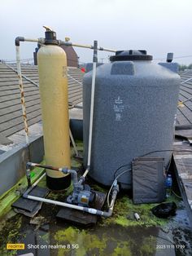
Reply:
[[[24,177],[27,161],[41,162],[43,156],[42,136],[33,138],[28,146],[23,143],[2,153],[0,156],[0,196]]]

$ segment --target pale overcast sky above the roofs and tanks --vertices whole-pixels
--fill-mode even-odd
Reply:
[[[155,59],[167,52],[192,63],[192,0],[1,0],[0,59],[15,60],[15,37],[44,37],[50,26],[58,39],[117,50],[144,49]],[[21,59],[33,58],[35,43],[21,43]],[[81,61],[92,52],[76,48]],[[99,53],[99,59],[108,53]],[[106,59],[107,61],[107,59]]]

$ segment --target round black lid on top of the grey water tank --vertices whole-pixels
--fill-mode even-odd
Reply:
[[[111,61],[123,60],[153,60],[152,55],[147,55],[145,50],[116,51],[116,55],[110,57]]]

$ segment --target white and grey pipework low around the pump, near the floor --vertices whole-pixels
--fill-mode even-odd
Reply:
[[[58,171],[62,171],[63,174],[72,174],[72,179],[73,179],[73,184],[78,184],[78,179],[77,179],[77,174],[76,174],[76,170],[68,170],[68,168],[58,168],[58,167],[53,167],[53,166],[44,166],[41,164],[36,164],[36,163],[32,163],[32,162],[28,162],[26,165],[26,169],[28,170],[28,179],[30,179],[30,175],[29,175],[29,171],[30,171],[30,167],[41,167],[41,168],[46,168],[46,169],[50,169],[50,170],[58,170]],[[89,207],[84,207],[84,206],[79,206],[79,205],[72,205],[72,204],[68,204],[68,203],[64,203],[61,201],[55,201],[55,200],[50,200],[50,199],[46,199],[46,198],[42,198],[39,196],[30,196],[28,193],[31,192],[33,190],[33,188],[37,185],[37,183],[45,176],[46,174],[42,174],[41,177],[39,179],[37,179],[37,181],[35,183],[33,183],[33,185],[31,185],[30,188],[28,188],[26,190],[26,192],[24,192],[23,197],[30,199],[30,200],[34,200],[34,201],[42,201],[48,204],[53,204],[53,205],[60,205],[63,207],[67,207],[67,208],[71,208],[71,209],[76,209],[76,210],[81,210],[84,212],[87,212],[89,214],[96,214],[98,216],[103,216],[103,217],[110,217],[112,212],[113,212],[113,207],[115,205],[115,201],[116,201],[116,195],[119,192],[119,185],[116,183],[114,183],[114,186],[112,188],[112,196],[111,196],[111,204],[109,207],[108,211],[103,211],[103,210],[97,210],[94,208],[89,208]],[[29,182],[31,184],[31,182]]]

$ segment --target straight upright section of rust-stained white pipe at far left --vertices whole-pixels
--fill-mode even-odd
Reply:
[[[26,113],[26,106],[25,106],[25,100],[24,100],[24,86],[23,86],[21,67],[20,67],[20,46],[15,46],[15,47],[16,47],[16,66],[17,66],[17,73],[19,77],[19,86],[20,86],[20,100],[22,105],[22,114],[24,118],[25,139],[26,139],[26,143],[28,144],[28,119],[27,119],[27,113]]]

